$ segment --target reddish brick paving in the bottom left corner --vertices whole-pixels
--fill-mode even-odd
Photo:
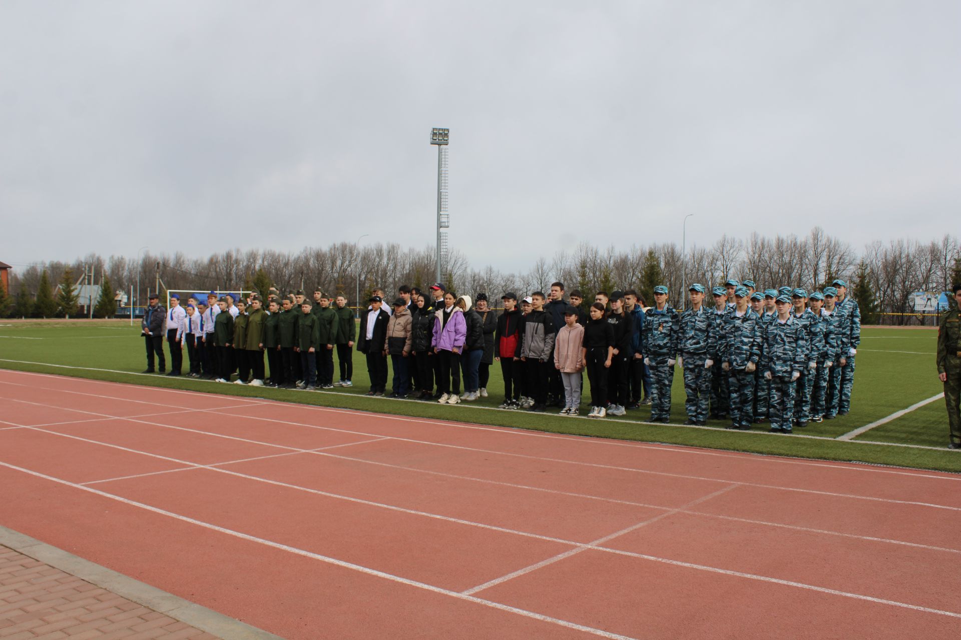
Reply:
[[[0,545],[2,640],[219,640]]]

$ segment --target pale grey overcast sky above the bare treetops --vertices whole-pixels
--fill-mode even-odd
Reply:
[[[961,233],[961,3],[0,4],[0,261]]]

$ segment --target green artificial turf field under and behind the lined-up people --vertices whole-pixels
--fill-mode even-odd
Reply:
[[[487,387],[490,397],[455,406],[365,397],[364,393],[368,391],[366,364],[363,355],[357,352],[354,357],[354,387],[350,389],[286,391],[225,385],[184,377],[142,375],[140,371],[145,367],[146,359],[139,328],[121,320],[10,323],[0,320],[0,367],[583,436],[961,472],[961,452],[945,448],[948,444],[948,420],[944,400],[940,398],[873,426],[863,434],[839,439],[855,429],[889,418],[943,391],[934,367],[936,340],[937,332],[931,329],[865,328],[857,352],[850,415],[825,420],[820,424],[812,422],[804,429],[795,429],[796,436],[769,434],[767,424],[756,425],[749,433],[724,430],[722,427],[725,423],[720,421],[708,421],[708,427],[714,428],[681,426],[686,416],[679,369],[674,379],[672,425],[643,424],[650,417],[649,407],[629,411],[624,417],[600,420],[497,410],[496,407],[503,401],[504,390],[497,363],[490,369]],[[186,355],[184,360],[186,367]],[[387,382],[389,392],[389,374]],[[588,387],[586,376],[584,382]],[[588,410],[589,400],[589,389],[585,389],[584,404],[581,405],[584,414]]]

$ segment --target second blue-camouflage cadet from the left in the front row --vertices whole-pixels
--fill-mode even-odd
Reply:
[[[691,307],[680,314],[680,354],[678,364],[684,371],[684,424],[707,424],[707,402],[711,391],[711,367],[716,350],[714,314],[704,309],[704,286],[688,288]]]

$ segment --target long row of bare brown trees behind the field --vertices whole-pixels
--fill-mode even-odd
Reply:
[[[958,277],[959,256],[958,241],[949,235],[926,244],[904,239],[887,244],[875,242],[859,253],[850,243],[815,227],[803,237],[725,235],[712,246],[693,246],[686,254],[673,243],[629,248],[580,244],[550,257],[538,257],[526,273],[505,273],[489,265],[475,269],[462,253],[454,251],[444,279],[449,288],[458,291],[484,291],[498,296],[505,291],[521,295],[546,291],[554,280],[566,283],[569,291],[584,290],[588,296],[598,290],[628,287],[643,293],[654,284],[666,284],[677,299],[686,289],[685,282],[714,285],[728,277],[751,278],[761,289],[788,285],[810,290],[824,286],[834,277],[854,280],[861,266],[875,294],[878,311],[909,313],[913,311],[908,306],[912,292],[941,292],[949,288]],[[56,282],[65,269],[84,273],[85,265],[93,265],[97,281],[106,275],[119,291],[129,292],[132,286],[139,289],[139,303],[158,280],[167,289],[235,290],[249,288],[261,273],[261,281],[266,277],[284,292],[320,286],[353,298],[357,285],[363,295],[375,286],[391,292],[401,284],[429,284],[434,273],[432,247],[411,249],[398,244],[357,248],[337,243],[296,253],[228,249],[207,257],[183,252],[147,253],[139,259],[89,254],[73,263],[54,261],[17,270],[13,273],[11,293],[25,287],[32,296],[36,295],[44,270]]]

